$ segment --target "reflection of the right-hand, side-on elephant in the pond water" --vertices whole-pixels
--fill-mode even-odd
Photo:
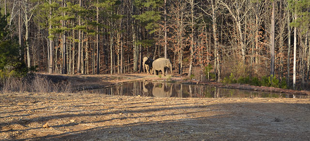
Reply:
[[[173,84],[169,86],[166,83],[155,83],[152,94],[155,97],[171,97]]]

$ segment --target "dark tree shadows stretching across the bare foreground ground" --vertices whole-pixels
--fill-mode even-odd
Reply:
[[[26,137],[26,140],[309,140],[310,138],[310,105],[288,103],[224,103],[199,106],[185,106],[184,104],[158,105],[150,109],[146,106],[133,106],[126,111],[96,110],[93,113],[71,114],[70,111],[62,115],[36,117],[29,122],[44,123],[49,120],[68,117],[84,117],[84,121],[62,125],[52,125],[51,128],[68,127],[69,131],[41,137]],[[162,106],[162,107],[160,107]],[[233,109],[232,109],[233,108]],[[291,109],[290,109],[291,108]],[[116,108],[117,109],[117,108]],[[120,108],[122,109],[122,108]],[[175,113],[175,110],[184,110]],[[167,112],[168,111],[168,112]],[[161,115],[150,113],[167,112]],[[87,117],[125,114],[123,117],[98,119],[87,121]],[[131,113],[135,113],[131,115]],[[148,113],[148,114],[147,114]],[[194,116],[195,115],[195,116]],[[296,116],[298,115],[298,116]],[[166,116],[177,116],[179,119],[163,119]],[[157,118],[147,121],[140,119]],[[132,121],[133,123],[126,122]],[[107,122],[123,124],[106,125]],[[16,124],[13,121],[7,124]],[[102,123],[102,124],[101,124]],[[3,125],[4,123],[2,123]],[[29,124],[29,123],[27,123]],[[78,125],[99,124],[94,127],[77,129]],[[2,132],[25,132],[31,129],[7,130]],[[42,128],[48,130],[48,128]]]

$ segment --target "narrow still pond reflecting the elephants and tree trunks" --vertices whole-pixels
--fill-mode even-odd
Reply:
[[[134,81],[122,83],[110,88],[88,89],[81,93],[96,93],[128,96],[154,97],[209,97],[209,98],[245,98],[245,97],[275,97],[275,98],[310,98],[309,95],[283,94],[249,91],[240,89],[217,88],[208,85],[180,84],[168,82]]]

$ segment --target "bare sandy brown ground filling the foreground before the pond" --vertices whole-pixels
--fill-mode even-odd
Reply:
[[[0,140],[310,139],[310,99],[0,94]]]

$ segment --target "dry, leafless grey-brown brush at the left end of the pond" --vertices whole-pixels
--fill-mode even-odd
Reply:
[[[32,92],[32,93],[70,93],[71,84],[67,81],[53,83],[45,76],[28,74],[24,78],[5,78],[2,80],[2,92]]]

